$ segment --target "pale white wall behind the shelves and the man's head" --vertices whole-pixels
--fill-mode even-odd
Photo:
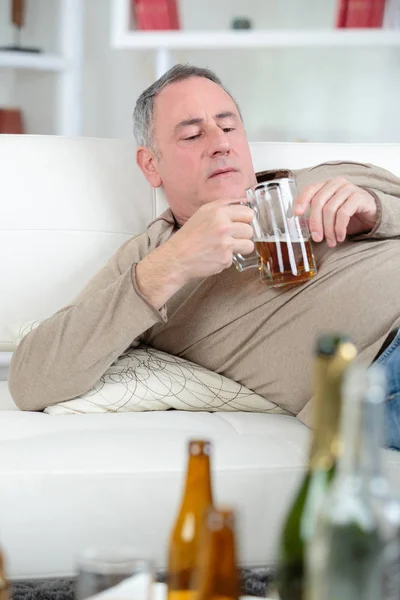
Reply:
[[[129,139],[135,100],[154,79],[154,53],[111,50],[113,0],[82,1],[83,135]],[[32,15],[27,40],[53,48],[50,24],[57,0],[27,4]],[[6,5],[8,0],[0,0],[0,39]],[[205,10],[203,0],[180,0],[180,14],[186,29],[226,29],[242,15],[260,28],[329,28],[335,5],[335,0],[214,0]],[[174,58],[217,72],[239,101],[251,140],[400,141],[399,48],[179,51]],[[49,133],[55,82],[51,74],[13,78],[0,70],[0,102],[14,97],[29,131]]]

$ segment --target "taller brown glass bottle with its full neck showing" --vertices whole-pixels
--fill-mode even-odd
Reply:
[[[205,510],[212,505],[210,454],[210,442],[189,442],[185,490],[168,548],[168,600],[192,596],[199,532]]]

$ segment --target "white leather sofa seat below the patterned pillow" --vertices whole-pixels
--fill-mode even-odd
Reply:
[[[0,530],[10,577],[68,576],[88,546],[135,546],[165,568],[191,437],[213,443],[218,503],[238,511],[240,562],[272,563],[304,469],[294,417],[152,411],[0,419]]]

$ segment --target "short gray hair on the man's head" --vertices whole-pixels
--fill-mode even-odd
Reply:
[[[155,150],[155,140],[153,137],[153,115],[154,115],[154,99],[160,91],[177,81],[189,79],[189,77],[205,77],[219,85],[232,98],[239,112],[240,118],[242,114],[240,108],[232,94],[222,85],[221,80],[210,69],[194,67],[192,65],[174,65],[169,71],[164,73],[162,77],[157,79],[150,87],[148,87],[138,98],[135,109],[133,111],[133,135],[135,136],[138,146],[146,146]]]

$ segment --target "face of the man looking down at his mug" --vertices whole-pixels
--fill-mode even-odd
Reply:
[[[219,198],[243,198],[255,183],[243,123],[232,98],[204,77],[166,86],[154,103],[154,168],[179,223]]]

